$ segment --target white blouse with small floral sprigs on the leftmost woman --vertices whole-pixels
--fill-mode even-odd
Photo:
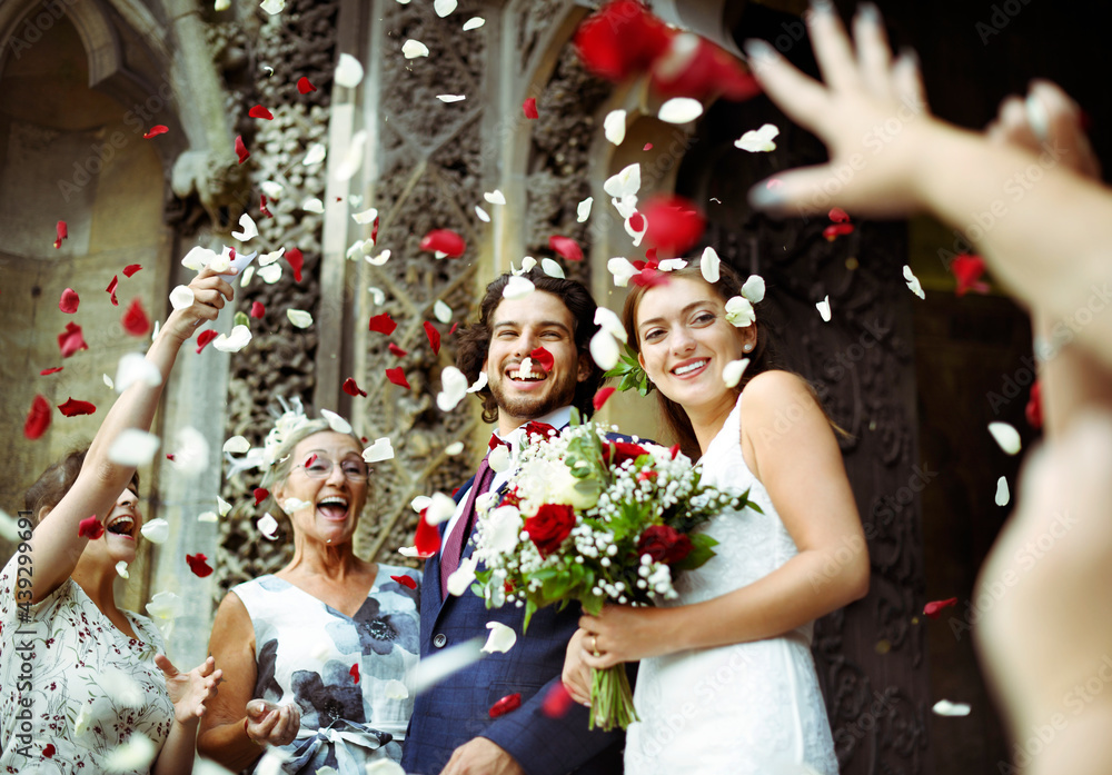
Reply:
[[[161,749],[173,705],[151,620],[126,612],[139,636],[131,638],[66,579],[22,622],[17,557],[0,572],[0,773],[107,772],[135,733]]]

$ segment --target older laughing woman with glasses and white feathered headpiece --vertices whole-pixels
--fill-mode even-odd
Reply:
[[[229,769],[258,767],[265,745],[281,748],[285,773],[364,775],[401,758],[421,576],[353,549],[368,489],[361,448],[299,410],[267,437],[262,484],[290,520],[294,558],[234,587],[216,615],[209,652],[225,682],[198,749]]]

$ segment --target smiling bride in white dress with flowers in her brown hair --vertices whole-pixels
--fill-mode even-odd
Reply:
[[[818,690],[814,619],[865,596],[868,556],[830,420],[800,377],[770,368],[766,332],[727,267],[697,265],[636,287],[624,322],[659,391],[665,425],[702,455],[703,480],[763,510],[725,513],[703,529],[716,556],[676,580],[659,607],[608,605],[584,616],[564,679],[589,703],[589,670],[641,660],[625,772],[836,775]],[[736,297],[736,298],[735,298]],[[748,298],[746,298],[748,297]],[[749,362],[736,387],[724,374]]]

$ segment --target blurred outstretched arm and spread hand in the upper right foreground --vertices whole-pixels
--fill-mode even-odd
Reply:
[[[807,23],[825,85],[763,41],[748,41],[746,51],[772,100],[826,143],[831,160],[757,183],[754,206],[783,215],[927,210],[963,230],[993,275],[1052,325],[1069,325],[1082,308],[1104,310],[1112,302],[1108,189],[1068,169],[1064,146],[1046,143],[1032,160],[933,118],[914,56],[890,58],[875,7],[857,16],[856,48],[828,2],[814,8]],[[1092,315],[1073,334],[1112,367],[1112,315]]]

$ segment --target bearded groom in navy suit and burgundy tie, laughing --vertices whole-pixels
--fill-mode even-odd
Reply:
[[[535,290],[524,298],[503,298],[509,280],[503,275],[489,286],[479,307],[479,321],[460,334],[456,364],[471,381],[480,371],[487,387],[478,395],[483,418],[497,423],[492,445],[520,443],[523,426],[547,423],[556,429],[569,421],[572,407],[589,417],[602,370],[588,355],[595,326],[595,301],[580,284],[532,271],[525,275]],[[537,348],[550,354],[546,371],[522,362]],[[456,513],[441,526],[440,552],[425,564],[420,600],[423,659],[475,637],[485,638],[488,622],[500,622],[517,633],[507,653],[494,653],[418,695],[406,735],[401,766],[416,775],[609,775],[622,772],[618,732],[587,729],[588,709],[576,704],[563,714],[545,712],[545,697],[560,683],[564,653],[575,632],[579,607],[556,613],[542,608],[522,633],[524,608],[507,604],[487,609],[470,590],[447,594],[447,577],[459,559],[471,554],[473,489],[497,491],[507,474],[479,467],[456,494]],[[478,483],[476,485],[476,481]],[[461,555],[460,555],[461,553]],[[516,711],[492,719],[490,706],[520,693]],[[555,716],[555,717],[554,717]]]

